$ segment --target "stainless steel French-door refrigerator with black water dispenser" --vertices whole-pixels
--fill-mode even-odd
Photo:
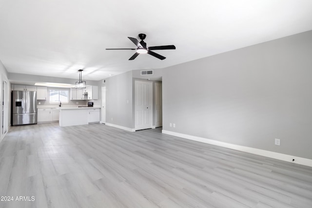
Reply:
[[[37,92],[12,91],[12,126],[37,124]]]

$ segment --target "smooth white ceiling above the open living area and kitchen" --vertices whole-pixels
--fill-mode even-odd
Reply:
[[[0,60],[10,73],[100,80],[164,68],[312,30],[312,0],[0,0]],[[176,45],[128,60],[127,38]]]

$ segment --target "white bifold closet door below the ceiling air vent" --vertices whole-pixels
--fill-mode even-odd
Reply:
[[[152,82],[135,80],[135,129],[152,128]]]

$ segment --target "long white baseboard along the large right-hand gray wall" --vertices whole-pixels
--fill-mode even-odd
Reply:
[[[271,157],[271,158],[278,159],[278,160],[283,160],[283,161],[287,161],[287,162],[292,162],[292,163],[297,163],[300,165],[312,167],[312,160],[307,159],[307,158],[303,158],[303,157],[296,157],[296,156],[292,156],[292,155],[288,155],[288,154],[282,154],[282,153],[278,153],[278,152],[274,152],[274,151],[266,151],[266,150],[252,148],[252,147],[234,145],[234,144],[229,144],[226,142],[220,142],[220,141],[216,141],[216,140],[212,140],[212,139],[207,139],[207,138],[198,137],[198,136],[192,136],[192,135],[188,135],[188,134],[184,134],[184,133],[171,132],[171,131],[167,131],[167,130],[162,130],[162,133],[173,135],[173,136],[178,136],[178,137],[182,137],[185,139],[190,139],[190,140],[194,140],[194,141],[198,141],[198,142],[203,142],[203,143],[207,143],[207,144],[212,144],[212,145],[216,145],[216,146],[220,146],[220,147],[225,147],[225,148],[229,148],[229,149],[233,149],[233,150],[249,152],[249,153],[253,153],[253,154],[257,154],[257,155],[262,155],[262,156]],[[292,161],[293,159],[294,159],[294,161]]]

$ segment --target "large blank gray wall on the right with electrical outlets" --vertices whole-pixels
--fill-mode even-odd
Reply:
[[[165,68],[162,91],[163,130],[312,159],[312,31]]]

